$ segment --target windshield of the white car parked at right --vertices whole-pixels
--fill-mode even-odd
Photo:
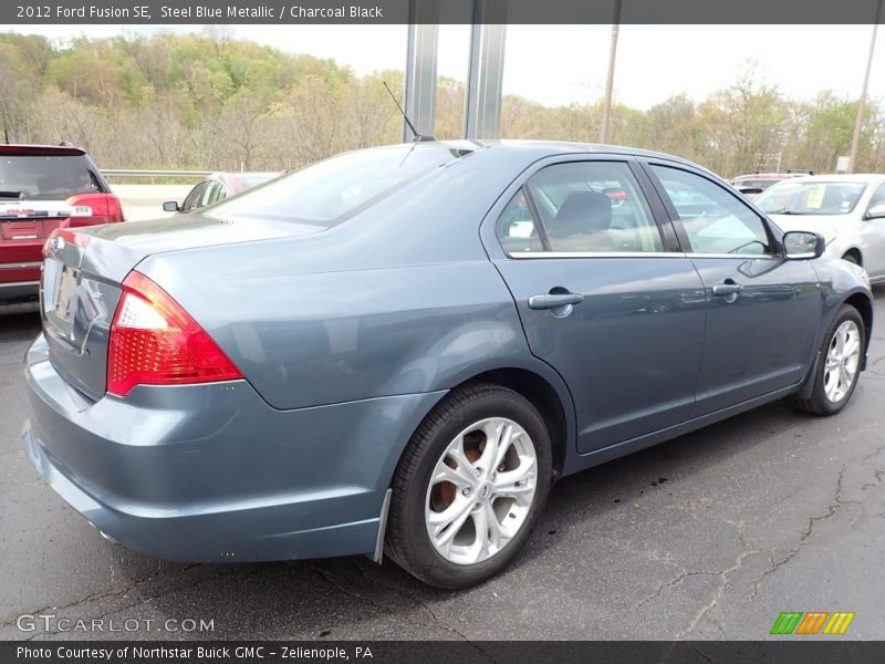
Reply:
[[[847,215],[866,185],[850,181],[784,181],[766,189],[753,203],[769,215]]]

